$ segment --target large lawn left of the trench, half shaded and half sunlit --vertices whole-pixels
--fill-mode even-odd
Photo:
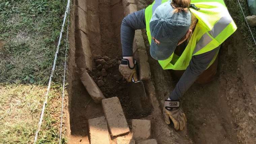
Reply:
[[[66,0],[0,1],[0,143],[33,143],[65,8]],[[64,39],[38,143],[59,141]]]

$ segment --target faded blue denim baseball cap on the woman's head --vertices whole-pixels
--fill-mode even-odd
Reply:
[[[149,23],[151,33],[150,55],[156,60],[165,60],[174,52],[178,42],[185,36],[191,24],[189,10],[174,13],[171,0],[159,5]],[[153,37],[160,44],[156,44]]]

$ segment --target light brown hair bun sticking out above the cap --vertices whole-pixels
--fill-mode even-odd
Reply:
[[[171,6],[174,8],[173,12],[188,11],[190,0],[172,0]]]

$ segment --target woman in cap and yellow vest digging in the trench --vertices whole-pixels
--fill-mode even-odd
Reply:
[[[183,130],[187,119],[180,98],[195,81],[213,80],[220,44],[235,32],[236,25],[223,0],[155,0],[123,19],[119,71],[127,81],[137,81],[132,44],[135,30],[144,28],[151,56],[180,78],[165,100],[163,115],[167,124],[170,118],[175,130]]]

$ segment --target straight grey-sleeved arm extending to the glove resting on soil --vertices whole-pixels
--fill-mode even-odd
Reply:
[[[211,51],[202,53],[200,55],[193,56],[190,60],[189,66],[181,76],[180,80],[176,84],[172,93],[169,96],[170,100],[179,100],[189,87],[196,81],[198,76],[207,68],[216,52],[220,47],[217,47]]]

